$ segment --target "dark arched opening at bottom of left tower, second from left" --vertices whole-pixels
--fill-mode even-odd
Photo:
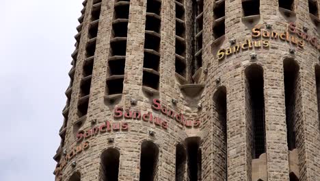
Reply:
[[[101,154],[101,180],[118,181],[120,152],[109,148]]]

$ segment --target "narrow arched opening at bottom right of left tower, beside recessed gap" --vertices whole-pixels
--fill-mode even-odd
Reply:
[[[176,145],[176,181],[185,180],[186,152],[183,145]]]

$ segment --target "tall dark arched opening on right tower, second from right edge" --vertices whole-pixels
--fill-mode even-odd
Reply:
[[[295,145],[295,123],[297,121],[299,93],[299,65],[294,60],[286,59],[283,63],[284,68],[284,94],[286,104],[286,136],[289,150],[296,148]]]

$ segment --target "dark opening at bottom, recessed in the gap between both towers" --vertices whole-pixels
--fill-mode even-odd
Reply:
[[[189,181],[198,181],[201,179],[201,150],[200,137],[189,137],[185,139],[188,156],[188,175]]]

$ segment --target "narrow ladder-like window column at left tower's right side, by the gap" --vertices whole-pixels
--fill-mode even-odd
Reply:
[[[186,39],[185,39],[185,5],[184,0],[176,4],[176,73],[186,77]]]

